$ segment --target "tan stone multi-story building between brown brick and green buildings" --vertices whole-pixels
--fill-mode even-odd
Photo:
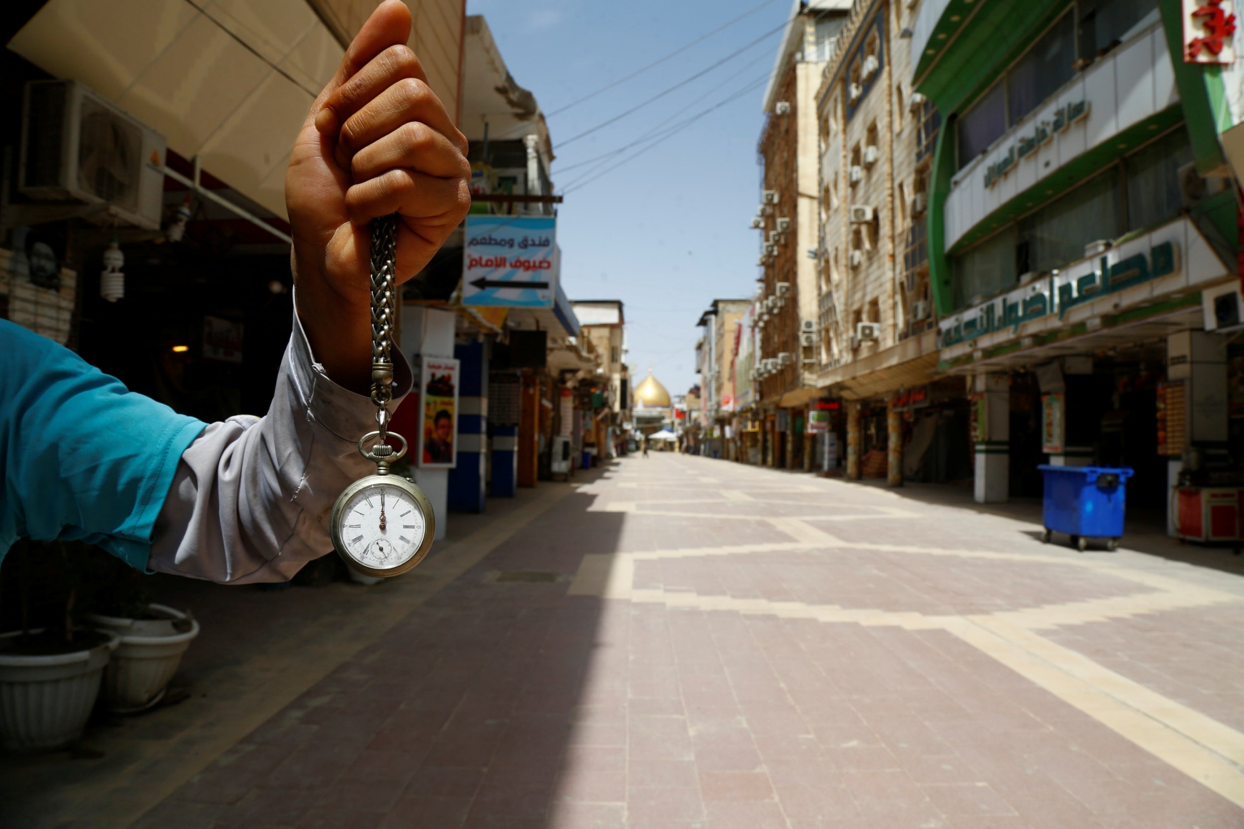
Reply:
[[[926,210],[940,119],[911,89],[911,6],[857,2],[822,73],[819,328],[806,337],[816,384],[847,401],[829,424],[835,444],[846,437],[847,477],[868,471],[892,485],[917,420],[912,392],[927,403],[937,368]]]

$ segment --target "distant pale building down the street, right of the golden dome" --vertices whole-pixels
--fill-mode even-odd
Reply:
[[[736,408],[734,364],[735,343],[743,314],[751,300],[713,300],[700,314],[704,336],[697,343],[697,367],[702,392],[703,454],[734,460],[734,413]]]

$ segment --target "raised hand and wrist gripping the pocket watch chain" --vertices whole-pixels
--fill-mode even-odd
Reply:
[[[466,138],[406,46],[411,12],[386,0],[311,104],[285,173],[297,313],[337,383],[371,385],[371,234],[397,213],[397,280],[418,273],[470,208]]]

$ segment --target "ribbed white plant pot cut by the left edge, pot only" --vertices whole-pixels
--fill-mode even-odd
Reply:
[[[82,736],[104,665],[119,644],[116,634],[103,633],[108,641],[70,654],[0,653],[0,747],[10,752],[58,748]],[[0,634],[0,640],[20,635]]]

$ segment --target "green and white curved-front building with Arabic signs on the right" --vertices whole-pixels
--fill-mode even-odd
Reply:
[[[1181,471],[1238,465],[1215,103],[1238,70],[1187,62],[1204,22],[1178,0],[924,0],[911,24],[912,88],[945,116],[929,288],[939,370],[975,406],[978,501],[1039,492],[1049,459],[1133,467],[1128,507],[1164,511]]]

